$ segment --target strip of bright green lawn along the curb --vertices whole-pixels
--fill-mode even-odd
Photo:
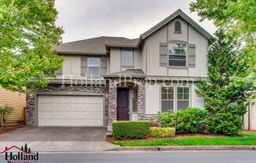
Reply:
[[[179,138],[158,139],[150,141],[115,141],[119,146],[218,146],[218,145],[256,145],[256,133],[241,132],[243,137],[231,136],[188,136]]]

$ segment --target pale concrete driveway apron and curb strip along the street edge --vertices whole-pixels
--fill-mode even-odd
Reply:
[[[5,147],[21,147],[27,143],[37,152],[86,152],[86,151],[127,151],[127,150],[256,150],[256,146],[164,146],[164,147],[119,147],[104,141],[16,141],[0,142],[0,151]]]

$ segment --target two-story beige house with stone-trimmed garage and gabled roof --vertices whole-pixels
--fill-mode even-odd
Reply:
[[[48,87],[27,96],[27,124],[111,127],[115,120],[154,120],[158,112],[203,107],[195,81],[207,78],[210,38],[179,9],[139,38],[57,45],[63,68]]]

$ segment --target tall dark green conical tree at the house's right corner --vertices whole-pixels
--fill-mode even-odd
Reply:
[[[240,53],[236,39],[221,30],[215,36],[208,53],[208,78],[199,80],[196,93],[209,111],[209,131],[234,136],[242,129],[242,116],[255,87],[245,78],[249,57]]]

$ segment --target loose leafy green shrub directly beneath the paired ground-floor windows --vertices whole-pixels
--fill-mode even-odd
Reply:
[[[158,115],[160,125],[174,127],[177,132],[206,132],[207,110],[188,107],[186,110],[166,111]]]

